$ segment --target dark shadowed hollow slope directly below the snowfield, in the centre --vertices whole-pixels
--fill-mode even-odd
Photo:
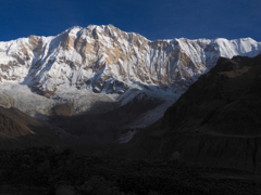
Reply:
[[[129,129],[124,126],[129,125],[139,118],[144,113],[151,110],[163,103],[163,100],[151,98],[146,93],[136,94],[132,101],[119,106],[117,103],[98,103],[92,105],[95,112],[70,116],[70,105],[57,106],[53,109],[51,121],[66,132],[76,135],[76,143],[69,138],[73,145],[100,145],[117,143],[121,133]],[[100,112],[112,107],[109,112]]]

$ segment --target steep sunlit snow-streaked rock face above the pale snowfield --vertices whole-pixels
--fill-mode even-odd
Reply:
[[[0,77],[44,95],[67,87],[124,93],[132,83],[185,91],[220,56],[254,56],[250,38],[150,41],[112,25],[72,27],[55,37],[0,42]]]

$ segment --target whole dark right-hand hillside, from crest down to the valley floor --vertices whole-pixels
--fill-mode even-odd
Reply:
[[[135,155],[261,170],[261,55],[221,57],[164,117],[138,134]]]

